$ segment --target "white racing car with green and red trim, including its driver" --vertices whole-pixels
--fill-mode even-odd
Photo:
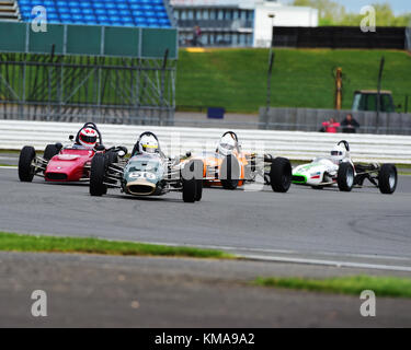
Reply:
[[[338,185],[340,190],[351,191],[354,186],[363,187],[366,179],[381,194],[391,195],[397,188],[397,167],[393,164],[354,164],[347,141],[340,141],[331,156],[317,158],[293,170],[293,184],[315,189]]]

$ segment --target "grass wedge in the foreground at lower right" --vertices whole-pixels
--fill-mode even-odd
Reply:
[[[398,277],[258,278],[253,283],[261,287],[350,295],[359,295],[364,290],[372,290],[377,296],[411,298],[411,279]]]

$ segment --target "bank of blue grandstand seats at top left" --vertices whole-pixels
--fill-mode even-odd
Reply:
[[[31,22],[32,9],[42,5],[52,24],[172,26],[168,2],[163,0],[18,0],[18,4],[24,22]]]

